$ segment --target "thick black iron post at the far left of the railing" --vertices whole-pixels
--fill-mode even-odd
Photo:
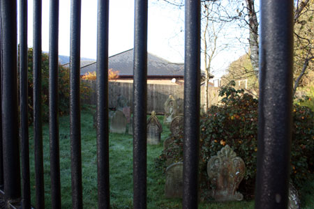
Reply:
[[[0,3],[4,192],[7,201],[15,201],[21,196],[17,120],[17,3],[11,0]]]

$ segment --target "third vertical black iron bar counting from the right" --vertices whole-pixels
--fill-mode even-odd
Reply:
[[[135,0],[133,208],[147,208],[147,0]]]

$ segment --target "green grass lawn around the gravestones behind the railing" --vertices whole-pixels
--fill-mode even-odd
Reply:
[[[159,118],[162,121],[162,118]],[[97,207],[97,161],[96,161],[96,130],[93,128],[93,115],[89,109],[83,110],[82,121],[82,183],[84,208]],[[31,196],[35,205],[35,174],[33,165],[33,127],[29,128],[30,162],[31,162]],[[70,180],[70,121],[68,116],[59,118],[60,132],[60,167],[62,208],[71,208],[71,180]],[[170,131],[163,126],[160,145],[147,146],[147,208],[181,208],[180,199],[165,199],[165,176],[154,166],[154,159],[163,150],[163,140]],[[50,148],[49,127],[43,125],[43,153],[45,174],[45,205],[51,208],[50,197]],[[110,134],[110,203],[112,208],[133,208],[133,139],[128,134]],[[314,208],[314,183],[303,189],[304,208]],[[254,208],[253,201],[229,203],[200,203],[200,208]]]

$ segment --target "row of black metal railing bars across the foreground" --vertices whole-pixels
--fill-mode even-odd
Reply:
[[[41,9],[33,1],[33,127],[36,208],[45,208],[41,122]],[[262,0],[260,104],[255,208],[287,208],[292,124],[293,1]],[[133,207],[147,208],[147,0],[135,0]],[[20,0],[20,99],[17,89],[17,3],[0,1],[0,194],[6,208],[31,207],[27,125],[27,0]],[[98,207],[110,208],[108,128],[109,0],[98,1],[97,162]],[[70,147],[73,208],[82,208],[80,130],[81,1],[70,10]],[[197,208],[200,137],[200,1],[186,0],[183,208]],[[58,104],[59,1],[50,0],[49,101],[52,208],[61,208]],[[20,139],[18,116],[20,107]],[[19,146],[19,140],[21,146]],[[22,178],[20,178],[20,152]],[[22,183],[22,196],[21,196]]]

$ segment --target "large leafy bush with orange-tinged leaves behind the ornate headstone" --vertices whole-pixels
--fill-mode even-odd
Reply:
[[[200,189],[203,199],[211,187],[207,176],[207,162],[225,145],[234,149],[246,164],[246,175],[239,186],[239,192],[246,199],[252,199],[257,164],[257,109],[258,100],[243,89],[234,89],[235,83],[220,89],[221,103],[211,106],[200,121]],[[308,107],[294,104],[293,137],[291,157],[291,178],[294,185],[301,187],[304,180],[314,171],[314,114]],[[164,167],[170,157],[183,160],[183,137],[175,137],[174,143],[156,160],[156,166]]]

